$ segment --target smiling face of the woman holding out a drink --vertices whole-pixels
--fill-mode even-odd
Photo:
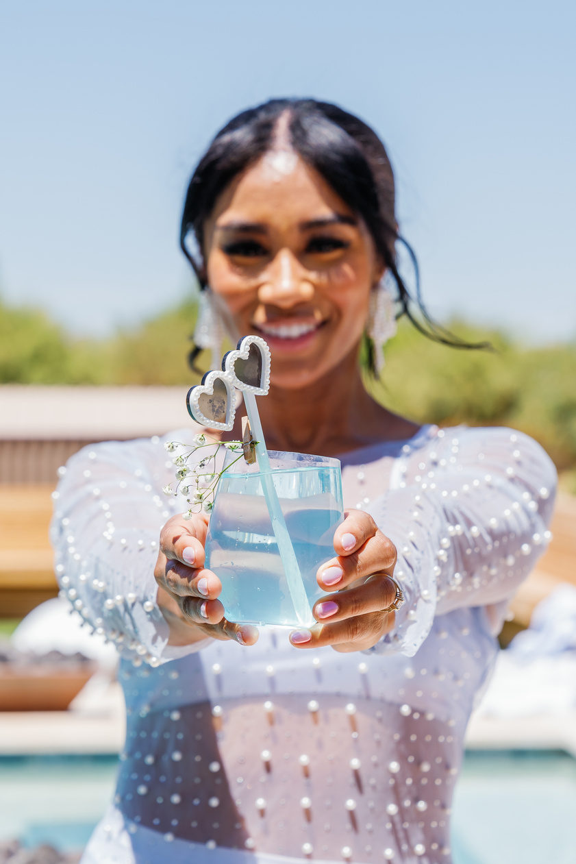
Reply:
[[[292,151],[232,181],[205,238],[208,284],[239,335],[268,342],[273,384],[313,384],[356,352],[383,267],[364,223]]]

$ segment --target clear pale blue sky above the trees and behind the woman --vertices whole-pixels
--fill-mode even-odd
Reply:
[[[436,314],[576,337],[576,4],[1,0],[0,294],[104,334],[177,302],[187,178],[270,96],[381,134]]]

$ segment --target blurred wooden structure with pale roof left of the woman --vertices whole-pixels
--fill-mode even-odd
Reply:
[[[56,596],[48,543],[60,465],[86,444],[196,425],[181,387],[0,386],[0,618]]]

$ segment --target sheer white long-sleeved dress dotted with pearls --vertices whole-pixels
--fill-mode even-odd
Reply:
[[[274,629],[250,648],[168,645],[153,570],[183,504],[161,493],[174,477],[162,444],[85,448],[55,493],[60,586],[116,643],[128,713],[84,864],[449,864],[466,722],[549,537],[548,456],[510,429],[430,426],[345,454],[345,505],[396,543],[407,601],[393,633],[341,654]]]

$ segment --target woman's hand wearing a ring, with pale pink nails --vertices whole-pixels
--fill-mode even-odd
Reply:
[[[337,558],[323,564],[316,579],[324,591],[336,591],[318,600],[313,616],[320,623],[310,630],[290,633],[292,645],[335,651],[365,651],[389,632],[395,613],[386,610],[396,600],[389,579],[396,566],[396,547],[360,510],[346,513],[334,535]]]

